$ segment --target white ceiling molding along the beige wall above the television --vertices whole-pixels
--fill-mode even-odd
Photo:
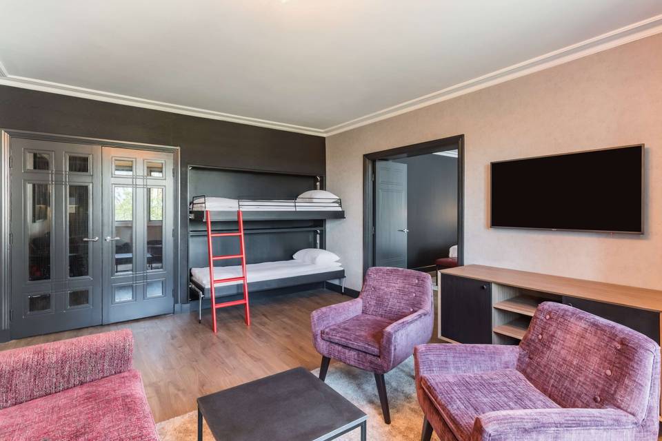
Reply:
[[[662,14],[323,130],[331,136],[662,33]]]

